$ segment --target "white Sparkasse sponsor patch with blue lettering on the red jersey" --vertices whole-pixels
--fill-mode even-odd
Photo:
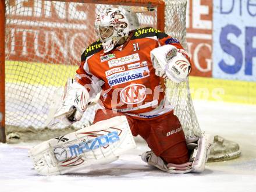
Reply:
[[[106,77],[106,79],[108,80],[109,86],[113,87],[129,81],[143,79],[148,76],[150,76],[150,70],[148,70],[148,67],[146,66],[138,69],[131,69],[127,72],[112,74],[111,76]]]

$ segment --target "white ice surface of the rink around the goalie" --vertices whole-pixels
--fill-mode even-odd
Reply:
[[[256,191],[256,106],[195,102],[201,128],[239,143],[242,155],[207,163],[204,173],[170,175],[141,161],[136,150],[108,165],[62,176],[40,176],[27,149],[33,144],[0,144],[0,191]]]

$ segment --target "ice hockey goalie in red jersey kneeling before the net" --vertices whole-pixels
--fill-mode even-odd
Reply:
[[[168,173],[202,172],[213,138],[202,134],[186,140],[173,106],[165,98],[165,78],[180,83],[191,70],[190,58],[179,40],[152,27],[129,31],[126,16],[119,9],[104,10],[95,19],[94,27],[98,40],[81,55],[76,78],[67,81],[62,107],[55,116],[65,114],[61,120],[71,125],[81,119],[90,99],[100,91],[102,109],[95,113],[90,131],[84,128],[72,133],[63,144],[49,140],[33,148],[30,155],[38,173],[71,172],[74,166],[64,169],[63,165],[72,158],[80,159],[77,164],[83,161],[77,168],[111,162],[119,152],[135,146],[127,129],[147,142],[151,151],[145,152],[142,159],[149,165]],[[111,143],[107,133],[113,134],[113,127],[127,134]],[[86,136],[81,137],[81,133]],[[93,133],[108,139],[90,148],[88,134]],[[75,155],[70,151],[74,144],[79,146]],[[106,146],[111,152],[105,150]],[[56,148],[65,149],[64,158],[63,150]],[[100,158],[93,156],[97,152]]]

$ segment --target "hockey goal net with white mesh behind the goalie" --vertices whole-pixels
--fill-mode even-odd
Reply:
[[[102,4],[104,2],[108,5]],[[134,6],[127,5],[127,2],[134,2]],[[73,77],[79,66],[81,53],[96,38],[93,23],[98,13],[110,6],[118,7],[126,13],[131,29],[159,27],[159,10],[153,4],[160,1],[147,1],[147,5],[140,5],[141,2],[146,1],[122,0],[125,5],[120,6],[118,1],[109,0],[97,3],[86,0],[5,0],[5,124],[8,143],[48,140],[93,122],[99,107],[97,98],[80,122],[72,127],[46,127],[56,109],[52,101],[61,98],[67,78]],[[165,32],[178,38],[185,49],[186,3],[186,0],[166,0],[164,12]],[[176,84],[166,80],[165,83],[166,94],[175,106],[175,115],[186,136],[200,136],[189,81]],[[223,147],[219,147],[227,145],[227,141],[221,137],[215,140],[215,154],[210,160],[239,156],[236,143],[232,145],[232,152],[237,154],[228,156],[230,153],[223,155]]]

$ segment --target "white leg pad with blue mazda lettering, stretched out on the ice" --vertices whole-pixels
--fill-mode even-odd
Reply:
[[[44,141],[31,148],[29,154],[40,175],[61,175],[115,161],[135,147],[126,117],[117,116]]]

